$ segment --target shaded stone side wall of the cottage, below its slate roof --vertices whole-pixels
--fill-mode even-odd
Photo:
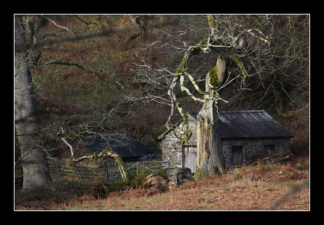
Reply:
[[[243,146],[243,162],[264,156],[264,145],[275,145],[274,153],[289,153],[290,138],[222,140],[221,147],[227,166],[232,163],[232,146]]]

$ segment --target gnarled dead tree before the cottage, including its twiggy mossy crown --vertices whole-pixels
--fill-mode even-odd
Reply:
[[[240,24],[245,24],[246,22],[249,26]],[[250,54],[249,52],[251,52],[250,48],[259,46],[259,41],[265,42],[268,45],[270,44],[269,37],[258,28],[250,28],[250,26],[254,27],[255,24],[250,24],[250,21],[246,21],[244,18],[208,15],[208,24],[210,29],[208,39],[201,40],[196,45],[190,45],[189,42],[183,41],[179,37],[180,35],[178,38],[173,36],[175,40],[184,45],[182,48],[184,50],[184,57],[176,73],[172,73],[174,74],[174,79],[168,91],[172,99],[172,109],[166,127],[168,129],[170,127],[173,128],[173,125],[169,123],[170,118],[174,114],[174,108],[176,107],[183,118],[183,122],[178,125],[178,133],[182,135],[178,135],[178,138],[182,144],[190,139],[192,133],[190,130],[185,129],[188,127],[185,126],[187,125],[187,116],[185,109],[180,105],[180,101],[177,100],[175,94],[177,83],[180,81],[181,91],[186,92],[194,101],[203,102],[203,107],[197,116],[197,165],[195,179],[201,179],[215,173],[223,173],[225,162],[220,144],[218,109],[221,101],[228,101],[222,99],[221,94],[229,83],[238,78],[242,80],[238,90],[245,89],[246,80],[250,77],[248,71],[254,71],[256,68],[254,63],[245,62],[246,60],[250,60],[247,57]],[[250,36],[242,35],[244,33],[255,37],[257,40],[255,41],[254,39],[250,39]],[[169,36],[172,35],[169,34]],[[210,52],[216,53],[217,62],[209,69],[205,78],[205,90],[201,90],[194,76],[190,74],[189,71],[191,70],[188,69],[188,66],[191,61],[190,58],[193,55]],[[228,69],[233,66],[236,68]],[[230,76],[229,71],[233,74],[231,79],[228,79]],[[194,96],[195,93],[185,87],[185,77],[190,80],[195,93],[200,94],[203,98]]]

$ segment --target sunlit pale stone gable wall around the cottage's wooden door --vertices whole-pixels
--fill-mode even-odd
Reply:
[[[197,124],[190,118],[188,118],[189,130],[192,132],[190,140],[185,145],[197,145]],[[176,130],[176,129],[175,129]],[[179,133],[176,131],[177,135]],[[182,167],[182,145],[179,143],[179,139],[174,135],[173,131],[169,131],[165,134],[161,140],[162,147],[162,160],[169,161],[169,167]]]

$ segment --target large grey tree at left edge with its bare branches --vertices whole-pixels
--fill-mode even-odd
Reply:
[[[104,126],[112,118],[112,112],[114,111],[114,108],[112,108],[100,116],[96,114],[85,115],[85,112],[84,115],[76,115],[71,112],[71,114],[62,117],[60,110],[57,113],[48,108],[45,111],[58,119],[54,123],[51,121],[39,123],[37,114],[40,111],[37,110],[35,104],[35,96],[39,92],[34,86],[35,82],[32,82],[31,76],[31,71],[34,68],[46,68],[51,65],[73,66],[94,74],[95,77],[104,82],[111,82],[111,80],[106,81],[105,77],[101,76],[103,72],[107,71],[102,71],[97,67],[94,68],[95,66],[87,62],[78,64],[63,61],[64,59],[62,60],[60,56],[55,59],[43,57],[45,49],[50,52],[60,51],[55,49],[53,45],[104,35],[102,32],[91,33],[88,36],[86,34],[73,35],[74,29],[61,25],[55,21],[56,19],[59,18],[43,15],[16,15],[15,17],[15,132],[21,150],[21,157],[15,164],[22,162],[23,190],[33,189],[35,186],[43,185],[50,180],[49,171],[46,167],[46,158],[58,146],[49,147],[47,143],[44,143],[44,140],[51,139],[52,142],[56,140],[58,143],[58,141],[62,142],[62,140],[66,142],[65,137],[82,138],[94,132],[92,130],[94,124],[97,125],[97,129]],[[41,28],[46,23],[52,24],[58,30],[52,30],[53,32],[50,35],[47,33],[40,35]],[[117,31],[112,29],[107,31],[106,34],[114,32]],[[71,37],[58,37],[66,34],[71,35]],[[80,59],[82,61],[82,58]],[[118,82],[111,83],[120,88]],[[77,120],[83,123],[68,126]]]

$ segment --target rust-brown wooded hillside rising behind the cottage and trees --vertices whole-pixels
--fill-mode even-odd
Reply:
[[[127,130],[137,137],[143,135],[143,130],[154,132],[164,129],[170,114],[167,92],[171,79],[166,72],[158,69],[174,71],[181,62],[183,50],[177,36],[188,44],[206,39],[207,16],[182,17],[177,23],[158,29],[150,26],[168,24],[177,16],[133,15],[133,18],[143,26],[141,30],[133,29],[134,23],[129,15],[60,15],[48,16],[48,20],[44,20],[38,34],[39,41],[53,41],[54,44],[42,49],[40,55],[30,54],[34,61],[33,85],[41,119],[47,122],[58,118],[61,126],[68,124],[72,129],[71,125],[80,125],[79,120],[83,116],[83,123],[88,128],[93,128],[96,123],[96,131]],[[296,18],[295,26],[300,29],[307,26],[307,18],[303,19]],[[276,21],[275,18],[273,20]],[[112,32],[107,35],[94,35],[110,29]],[[281,43],[290,40],[289,36],[281,34],[287,29],[286,25],[277,29],[276,35],[282,35],[280,39],[277,37],[278,45],[286,46],[286,43]],[[94,36],[55,43],[66,35],[73,37],[79,34]],[[305,43],[302,42],[300,47],[304,61],[298,62],[300,57],[294,55],[289,55],[289,59],[282,62],[273,59],[278,68],[265,70],[261,80],[252,76],[249,78],[250,85],[245,89],[238,91],[236,86],[239,83],[230,83],[224,92],[224,98],[229,102],[222,103],[221,108],[265,109],[292,133],[307,131],[309,87],[307,73],[304,72],[308,68],[307,34],[307,29],[300,34],[305,36]],[[274,50],[275,47],[271,49]],[[204,85],[200,77],[215,63],[215,54],[208,58],[205,55],[195,55],[191,60],[192,66],[188,68],[194,72],[195,78],[201,80],[199,86]],[[235,70],[237,68],[233,68]],[[201,106],[180,90],[177,97],[187,110],[197,110]],[[68,120],[71,116],[73,120]]]

